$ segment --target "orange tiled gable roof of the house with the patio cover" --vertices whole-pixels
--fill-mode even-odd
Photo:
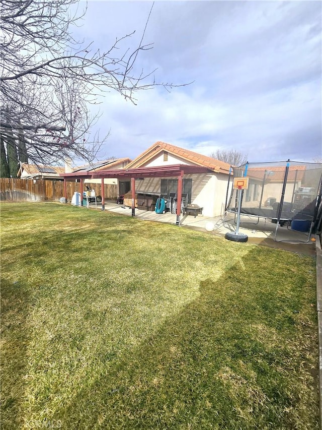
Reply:
[[[207,157],[206,155],[198,154],[197,152],[190,151],[189,149],[180,148],[179,146],[171,145],[165,142],[154,143],[126,167],[129,169],[142,167],[156,155],[164,151],[179,156],[182,159],[198,166],[207,167],[208,169],[215,172],[229,173],[230,164],[225,163],[224,161],[216,160],[214,158]]]

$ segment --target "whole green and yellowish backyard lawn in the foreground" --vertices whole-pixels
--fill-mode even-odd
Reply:
[[[2,428],[318,428],[315,259],[55,203],[1,219]]]

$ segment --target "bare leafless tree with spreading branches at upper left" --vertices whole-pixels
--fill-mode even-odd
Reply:
[[[106,139],[90,138],[98,118],[97,112],[91,115],[90,105],[98,102],[99,95],[114,90],[135,104],[140,90],[178,86],[155,82],[154,71],[135,73],[138,54],[152,48],[143,44],[150,15],[135,49],[120,51],[131,33],[101,52],[93,49],[93,43],[84,45],[72,36],[72,26],[86,13],[78,12],[78,0],[2,0],[1,4],[1,135],[6,142],[12,135],[19,139],[23,131],[28,157],[34,162],[95,158]]]

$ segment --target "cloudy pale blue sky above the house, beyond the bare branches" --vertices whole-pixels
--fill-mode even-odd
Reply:
[[[153,7],[152,7],[153,5]],[[93,133],[110,132],[100,158],[137,157],[157,141],[203,155],[237,150],[249,162],[322,157],[321,2],[89,0],[75,35],[107,50],[144,43],[136,70],[146,83],[136,105],[101,99]]]

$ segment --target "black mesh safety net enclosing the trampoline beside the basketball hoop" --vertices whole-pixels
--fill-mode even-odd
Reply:
[[[240,193],[241,214],[265,217],[272,222],[316,222],[321,211],[322,164],[281,161],[247,163],[233,168],[233,177],[249,178]],[[226,210],[237,212],[238,190],[228,185]],[[227,196],[228,196],[227,190]]]

